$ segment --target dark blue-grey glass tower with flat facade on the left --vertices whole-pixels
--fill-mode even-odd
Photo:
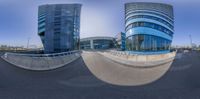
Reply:
[[[38,35],[45,53],[78,50],[81,4],[39,6]]]

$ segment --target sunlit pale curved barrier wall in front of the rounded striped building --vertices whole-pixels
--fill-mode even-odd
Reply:
[[[110,55],[109,55],[110,54]],[[114,62],[134,67],[154,67],[165,63],[172,62],[176,56],[176,51],[166,54],[130,54],[125,51],[106,51],[104,56],[108,57]]]

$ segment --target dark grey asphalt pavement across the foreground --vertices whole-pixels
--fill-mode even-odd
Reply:
[[[82,58],[42,72],[18,68],[0,58],[0,99],[199,99],[199,75],[199,52],[180,55],[163,77],[142,86],[105,83]]]

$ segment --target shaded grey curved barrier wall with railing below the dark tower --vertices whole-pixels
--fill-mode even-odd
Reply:
[[[5,53],[2,58],[7,62],[29,70],[51,70],[62,67],[80,57],[80,51],[53,54]]]

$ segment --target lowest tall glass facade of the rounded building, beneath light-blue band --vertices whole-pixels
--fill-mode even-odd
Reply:
[[[169,50],[171,41],[153,35],[134,35],[126,39],[128,51],[162,51]]]

